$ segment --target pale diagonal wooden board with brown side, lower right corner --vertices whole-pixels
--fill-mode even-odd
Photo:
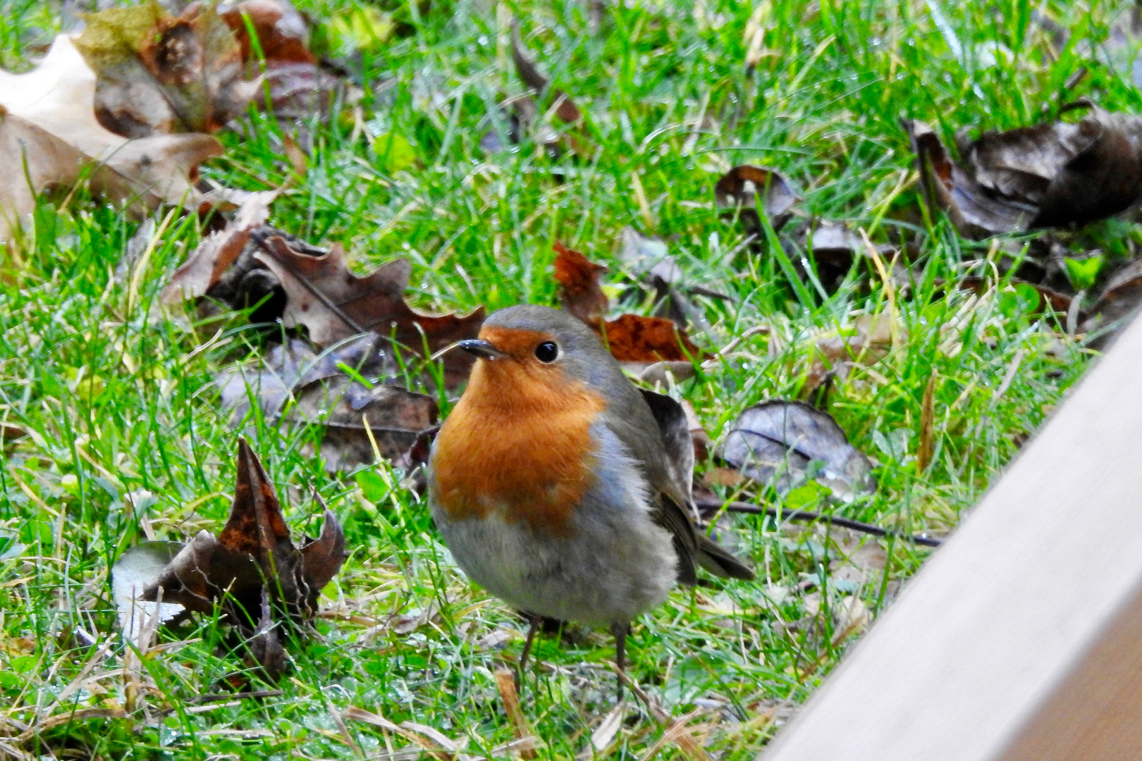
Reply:
[[[1142,322],[764,761],[1142,759]]]

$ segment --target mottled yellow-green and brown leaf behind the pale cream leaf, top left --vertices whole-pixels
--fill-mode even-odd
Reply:
[[[85,21],[75,48],[98,78],[96,116],[118,135],[214,132],[262,87],[244,79],[242,50],[212,6],[171,16],[152,0]]]

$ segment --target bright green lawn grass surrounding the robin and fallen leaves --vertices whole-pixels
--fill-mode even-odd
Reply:
[[[365,5],[300,7],[323,21]],[[731,0],[616,3],[598,34],[580,2],[402,6],[411,33],[352,60],[365,91],[360,107],[306,126],[308,171],[274,204],[272,221],[344,244],[361,272],[409,257],[412,302],[459,311],[553,303],[553,241],[612,264],[610,278],[620,282],[620,230],[661,235],[690,282],[732,297],[701,301],[713,325],[711,337],[698,337],[706,349],[769,326],[670,389],[715,438],[742,408],[799,396],[818,337],[851,332],[860,315],[894,314],[903,340],[828,396],[850,439],[882,463],[876,495],[838,510],[908,532],[947,531],[1059,404],[1089,353],[996,276],[991,242],[962,240],[922,212],[899,120],[938,124],[950,139],[965,126],[1049,118],[1079,96],[1136,112],[1139,92],[1091,44],[1107,37],[1117,6],[1047,3],[1072,30],[1071,42],[1049,52],[1027,1],[763,5],[769,54],[753,73],[743,64],[753,9]],[[532,56],[586,115],[580,156],[550,159],[530,141],[492,156],[478,148],[498,95],[523,89],[510,64],[514,16]],[[0,0],[0,64],[26,70],[31,48],[57,24],[58,9]],[[1063,94],[1080,66],[1086,78]],[[204,175],[249,189],[280,185],[289,173],[281,136],[295,129],[251,114],[243,137],[219,135],[226,154]],[[413,146],[415,165],[389,171],[370,147],[370,136],[388,133]],[[741,245],[740,228],[714,208],[715,180],[737,163],[785,172],[803,189],[805,214],[847,220],[877,242],[909,242],[922,285],[890,293],[861,264],[833,297],[791,288],[780,257]],[[320,637],[290,646],[295,670],[276,686],[280,696],[196,705],[243,670],[226,631],[199,618],[160,634],[161,647],[143,657],[145,697],[132,702],[107,569],[148,531],[184,540],[220,528],[238,434],[218,410],[212,373],[260,343],[240,319],[203,337],[154,308],[199,241],[194,218],[172,219],[137,293],[114,280],[137,226],[80,196],[65,210],[45,201],[29,245],[0,270],[0,421],[29,432],[5,445],[0,468],[0,752],[351,758],[357,751],[333,713],[348,706],[426,724],[475,756],[510,740],[493,671],[517,655],[524,624],[464,577],[399,473],[380,468],[394,487],[372,502],[352,475],[329,476],[300,454],[315,431],[263,421],[254,421],[252,443],[291,525],[316,529],[312,485],[341,518],[352,550],[322,599]],[[1094,235],[1139,240],[1123,222]],[[991,278],[984,293],[938,285],[968,272]],[[917,472],[933,377],[934,456]],[[860,576],[844,559],[853,535],[761,519],[738,521],[735,534],[761,581],[677,591],[636,622],[629,649],[633,678],[675,718],[698,711],[695,736],[722,759],[753,758],[774,718],[803,702],[855,641],[837,625],[844,598],[879,612],[928,554],[880,543],[883,567],[872,562]],[[540,758],[589,756],[589,735],[613,702],[611,643],[580,632],[542,639],[537,655],[542,666],[526,679],[523,709],[547,744]],[[249,689],[267,688],[247,677]],[[66,718],[90,709],[127,714]],[[35,731],[17,737],[23,727]],[[410,745],[365,723],[346,728],[365,756]],[[606,753],[642,759],[661,734],[632,705]]]

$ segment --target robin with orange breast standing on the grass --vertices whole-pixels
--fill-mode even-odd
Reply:
[[[428,464],[428,504],[464,572],[531,617],[608,625],[625,665],[630,622],[695,567],[753,572],[699,532],[642,394],[579,319],[509,307],[459,347],[477,357]],[[619,685],[619,694],[622,685]]]

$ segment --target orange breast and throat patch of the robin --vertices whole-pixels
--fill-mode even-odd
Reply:
[[[436,438],[431,487],[453,520],[498,513],[566,534],[595,481],[602,396],[557,366],[481,359]]]

